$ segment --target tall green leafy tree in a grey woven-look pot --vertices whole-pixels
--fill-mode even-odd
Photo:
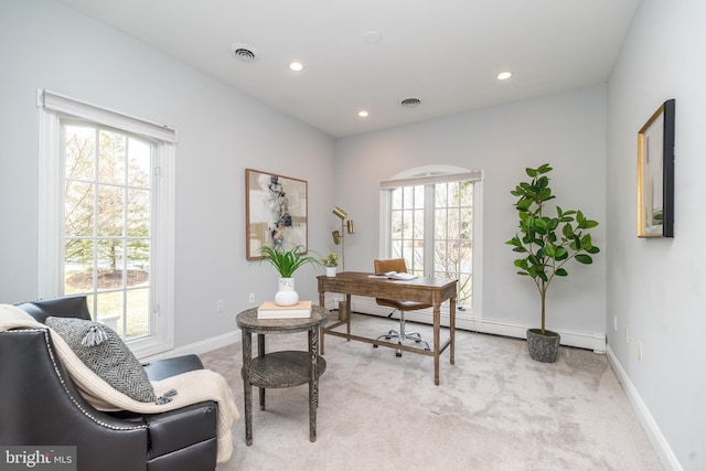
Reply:
[[[515,210],[520,217],[520,232],[505,244],[520,254],[515,259],[517,275],[530,277],[539,293],[542,327],[527,330],[530,356],[539,362],[556,361],[560,335],[546,329],[546,296],[556,277],[567,277],[566,266],[576,260],[584,265],[593,263],[591,255],[600,249],[591,240],[590,229],[596,221],[581,211],[564,211],[556,206],[556,215],[549,215],[547,202],[554,200],[547,174],[548,163],[526,169],[530,181],[521,182],[510,193],[517,196]]]

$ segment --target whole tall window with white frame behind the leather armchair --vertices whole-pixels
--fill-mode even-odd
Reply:
[[[40,296],[86,295],[141,356],[171,347],[173,131],[40,98]]]

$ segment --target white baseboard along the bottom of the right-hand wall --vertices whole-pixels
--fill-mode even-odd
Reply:
[[[620,384],[622,384],[630,404],[632,404],[632,408],[638,416],[638,420],[642,424],[642,428],[648,435],[655,452],[660,457],[660,461],[662,461],[662,464],[667,471],[682,471],[683,468],[674,456],[670,443],[667,443],[666,439],[662,435],[660,427],[657,427],[656,422],[652,418],[652,414],[650,414],[650,409],[648,409],[645,404],[642,402],[642,397],[640,397],[638,389],[635,389],[634,385],[630,381],[630,376],[628,376],[620,362],[618,362],[618,358],[610,346],[608,346],[607,353],[608,362],[618,375],[618,379],[620,381]]]

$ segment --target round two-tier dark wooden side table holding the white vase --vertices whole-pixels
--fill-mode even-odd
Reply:
[[[245,442],[253,445],[253,386],[259,388],[260,410],[265,410],[265,389],[292,387],[309,383],[309,441],[317,441],[317,407],[319,377],[327,368],[319,355],[320,327],[329,318],[329,310],[313,306],[311,317],[303,319],[258,319],[257,308],[236,317],[243,333],[243,389],[245,396]],[[308,351],[265,353],[266,334],[309,332]],[[257,356],[253,358],[253,333],[257,334]]]

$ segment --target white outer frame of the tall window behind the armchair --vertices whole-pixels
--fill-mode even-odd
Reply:
[[[38,297],[63,296],[64,174],[60,152],[62,117],[109,126],[158,142],[154,156],[156,216],[150,265],[151,315],[154,334],[127,341],[139,358],[174,346],[174,193],[176,131],[121,113],[100,108],[50,90],[38,90],[39,227]]]

